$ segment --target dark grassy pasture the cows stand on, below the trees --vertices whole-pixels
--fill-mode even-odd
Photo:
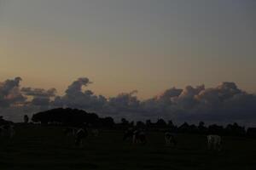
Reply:
[[[0,139],[0,170],[16,169],[256,169],[256,139],[224,137],[224,150],[207,150],[206,137],[177,134],[177,147],[166,147],[163,133],[147,133],[148,144],[122,141],[121,131],[102,130],[84,148],[61,127],[18,127],[14,139]]]

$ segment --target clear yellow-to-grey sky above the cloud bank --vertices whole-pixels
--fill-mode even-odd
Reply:
[[[0,0],[0,82],[56,88],[79,77],[106,98],[236,82],[256,93],[253,0]]]

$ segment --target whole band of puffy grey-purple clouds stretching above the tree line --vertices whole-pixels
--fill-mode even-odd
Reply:
[[[0,113],[42,111],[72,107],[96,111],[100,116],[125,117],[130,120],[157,118],[175,122],[256,122],[256,95],[248,94],[235,82],[222,82],[215,88],[204,85],[169,88],[150,99],[139,100],[137,90],[106,98],[87,88],[92,82],[81,77],[56,96],[56,89],[20,88],[20,77],[0,82]],[[18,109],[19,108],[19,109]]]

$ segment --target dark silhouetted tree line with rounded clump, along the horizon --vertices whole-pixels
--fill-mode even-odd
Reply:
[[[138,127],[151,131],[169,130],[173,133],[216,133],[219,135],[236,135],[236,136],[256,136],[256,127],[245,128],[238,123],[228,124],[227,126],[219,126],[212,124],[206,126],[204,122],[199,122],[198,125],[184,122],[181,126],[174,125],[172,120],[166,122],[164,119],[159,119],[156,122],[147,120],[146,122],[129,122],[125,118],[121,122],[116,123],[113,117],[99,117],[96,113],[88,113],[78,109],[63,109],[57,108],[49,111],[39,112],[32,116],[32,122],[40,122],[42,124],[59,124],[65,126],[92,126],[92,127],[108,127],[126,129],[128,127]]]

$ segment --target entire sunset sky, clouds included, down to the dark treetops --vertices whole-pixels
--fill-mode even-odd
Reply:
[[[256,126],[254,0],[0,0],[0,116]],[[92,82],[92,83],[91,83]]]

